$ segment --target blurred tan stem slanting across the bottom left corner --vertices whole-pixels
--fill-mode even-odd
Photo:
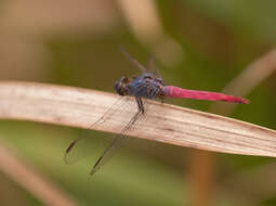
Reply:
[[[16,183],[29,191],[44,205],[77,206],[77,202],[67,195],[60,186],[42,177],[35,168],[12,151],[1,140],[0,142],[0,170]]]

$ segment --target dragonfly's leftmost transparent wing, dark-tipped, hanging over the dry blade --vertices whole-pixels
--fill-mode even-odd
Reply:
[[[108,118],[111,115],[119,115],[119,108],[130,106],[131,102],[127,101],[126,99],[128,98],[122,96],[116,100],[115,103],[95,123],[93,123],[86,130],[82,130],[80,137],[73,141],[65,152],[64,160],[66,164],[77,163],[78,160],[97,152],[101,149],[102,144],[105,143],[101,137],[102,133],[98,132],[96,134],[95,131],[91,130],[96,130],[101,125],[107,125],[107,127],[111,126]]]

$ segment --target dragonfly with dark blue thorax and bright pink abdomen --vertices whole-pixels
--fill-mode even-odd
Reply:
[[[148,104],[146,100],[148,99],[160,101],[161,103],[165,101],[165,99],[168,98],[224,101],[239,104],[250,103],[249,100],[235,95],[227,95],[224,93],[211,91],[189,90],[166,85],[156,66],[154,57],[149,59],[148,67],[145,67],[140,62],[137,62],[124,48],[120,47],[120,51],[132,63],[132,65],[140,69],[141,75],[137,77],[133,77],[132,79],[122,76],[119,80],[115,82],[114,88],[115,91],[122,98],[134,96],[137,111],[130,118],[130,120],[126,123],[126,126],[121,129],[121,131],[118,134],[115,134],[109,145],[107,145],[107,147],[102,152],[102,155],[100,155],[94,166],[92,167],[90,175],[95,173],[102,166],[106,164],[106,162],[114,155],[114,153],[123,145],[123,142],[127,139],[128,133],[133,127],[133,125],[141,120],[142,116],[146,116],[146,108]],[[106,124],[106,121],[108,121],[107,117],[110,115],[115,115],[116,111],[117,115],[119,115],[118,110],[122,110],[126,105],[122,103],[123,101],[121,99],[118,102],[110,106],[105,112],[105,114],[100,117],[97,121],[95,121],[94,124],[92,124],[92,126],[88,128],[87,131],[89,131],[90,129],[95,129],[101,124]],[[74,151],[76,145],[79,144],[79,142],[81,141],[84,142],[86,139],[90,139],[90,137],[87,137],[84,134],[69,144],[64,156],[66,163],[70,163],[69,154],[71,153],[71,151]]]

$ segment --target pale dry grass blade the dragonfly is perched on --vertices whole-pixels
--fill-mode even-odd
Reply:
[[[2,81],[0,118],[88,128],[118,98],[73,87]],[[154,110],[147,112],[147,118],[136,124],[129,136],[222,153],[276,156],[275,130],[158,102],[150,106]],[[137,108],[131,104],[119,110],[120,115],[108,118],[114,124],[103,124],[96,129],[118,133]]]

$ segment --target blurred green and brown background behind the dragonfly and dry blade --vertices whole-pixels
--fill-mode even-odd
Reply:
[[[2,80],[114,92],[119,77],[137,73],[119,52],[122,44],[143,64],[154,54],[168,83],[221,91],[276,43],[276,1],[268,0],[14,0],[0,5]],[[275,79],[272,75],[254,88],[251,104],[238,106],[232,117],[276,129]],[[210,106],[174,103],[200,111]],[[93,160],[63,162],[79,129],[14,120],[1,120],[0,128],[1,139],[80,205],[190,205],[192,149],[133,139],[90,177]],[[213,205],[276,205],[273,158],[215,156]],[[1,205],[43,205],[0,173]]]

